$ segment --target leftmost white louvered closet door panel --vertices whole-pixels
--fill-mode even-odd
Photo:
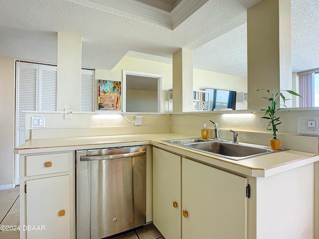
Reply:
[[[25,126],[25,117],[22,111],[36,111],[36,81],[38,78],[36,64],[20,64],[17,66],[17,103],[18,127]]]

